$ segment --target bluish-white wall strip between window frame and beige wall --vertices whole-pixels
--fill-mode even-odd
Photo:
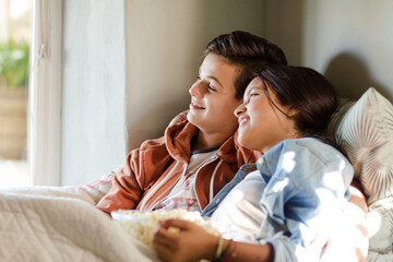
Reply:
[[[78,184],[127,152],[124,3],[63,3],[61,183]]]

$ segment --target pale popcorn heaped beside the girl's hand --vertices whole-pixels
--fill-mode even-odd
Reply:
[[[217,227],[211,219],[203,218],[199,212],[189,212],[187,210],[158,210],[158,211],[135,211],[135,210],[118,210],[112,211],[112,218],[128,234],[138,240],[144,242],[148,247],[153,247],[153,237],[158,227],[159,221],[165,219],[184,219],[193,222],[201,226],[207,233],[218,235]],[[178,233],[178,228],[169,228],[169,231]]]

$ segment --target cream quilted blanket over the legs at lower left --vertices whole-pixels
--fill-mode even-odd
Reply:
[[[86,201],[10,191],[0,193],[0,261],[158,259]]]

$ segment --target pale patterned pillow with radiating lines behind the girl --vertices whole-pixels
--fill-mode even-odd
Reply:
[[[370,87],[344,115],[335,140],[355,168],[368,204],[393,193],[393,106]]]

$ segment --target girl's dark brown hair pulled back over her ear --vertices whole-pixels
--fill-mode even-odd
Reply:
[[[293,118],[303,136],[320,138],[332,144],[323,132],[340,99],[334,86],[322,74],[310,68],[269,66],[255,75],[262,80],[265,94],[273,105],[266,84],[282,106],[299,111]]]

